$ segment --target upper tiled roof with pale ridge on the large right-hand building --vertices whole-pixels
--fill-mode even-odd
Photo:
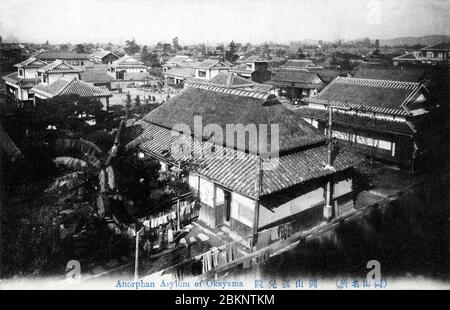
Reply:
[[[419,83],[337,77],[310,103],[377,113],[409,115],[403,104],[421,88]]]

